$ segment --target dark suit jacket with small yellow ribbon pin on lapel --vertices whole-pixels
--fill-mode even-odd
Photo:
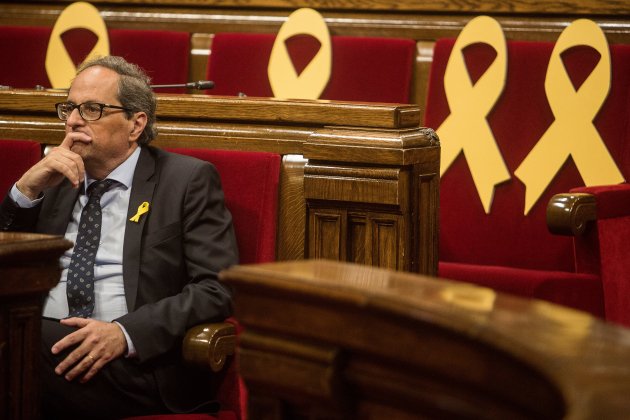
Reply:
[[[20,209],[7,197],[2,230],[63,235],[78,191],[66,180],[46,191],[40,206]],[[149,212],[129,221],[141,203]],[[123,246],[129,313],[120,322],[140,363],[153,370],[166,405],[186,411],[211,398],[208,373],[181,363],[181,342],[196,324],[231,314],[231,294],[218,281],[236,264],[232,218],[216,169],[209,163],[149,146],[141,149],[133,178]]]

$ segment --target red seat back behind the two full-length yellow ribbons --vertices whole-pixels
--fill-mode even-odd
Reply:
[[[454,40],[435,46],[425,125],[437,129],[450,113],[444,72]],[[472,80],[483,73],[492,55],[487,44],[464,50]],[[495,187],[490,213],[477,194],[467,160],[460,154],[441,179],[440,260],[573,272],[572,240],[551,235],[546,206],[557,193],[584,185],[569,158],[548,188],[524,216],[525,185],[514,171],[554,121],[545,93],[547,65],[554,48],[549,42],[507,43],[507,80],[502,95],[487,116],[510,179]],[[610,93],[594,124],[625,179],[630,179],[630,46],[612,45]],[[595,57],[593,57],[595,54]],[[579,86],[597,62],[597,51],[576,47],[562,55],[568,74]],[[491,61],[491,60],[490,60]],[[474,139],[471,139],[471,141]],[[567,139],[571,141],[571,139]]]

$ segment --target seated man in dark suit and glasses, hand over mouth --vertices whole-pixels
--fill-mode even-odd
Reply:
[[[146,75],[124,59],[82,65],[56,107],[65,138],[14,185],[0,228],[85,241],[89,186],[107,179],[109,189],[99,193],[98,244],[87,239],[96,254],[85,266],[93,283],[81,280],[79,290],[89,302],[81,312],[71,290],[88,248],[75,242],[45,303],[44,416],[120,418],[203,406],[212,397],[210,375],[188,369],[180,355],[189,327],[231,314],[230,291],[217,274],[238,256],[218,174],[207,162],[148,145],[155,97]]]

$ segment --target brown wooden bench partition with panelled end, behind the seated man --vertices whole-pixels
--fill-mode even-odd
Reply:
[[[0,91],[0,138],[58,144],[65,93]],[[437,273],[440,145],[416,105],[158,96],[158,147],[283,156],[278,260]]]

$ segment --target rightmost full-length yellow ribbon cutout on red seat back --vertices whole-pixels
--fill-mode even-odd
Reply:
[[[591,46],[601,56],[577,92],[560,56],[576,45]],[[569,156],[573,157],[587,186],[624,181],[593,125],[593,119],[610,91],[610,71],[606,36],[595,22],[579,19],[562,31],[551,53],[545,79],[545,92],[556,119],[514,172],[525,184],[525,214]]]

